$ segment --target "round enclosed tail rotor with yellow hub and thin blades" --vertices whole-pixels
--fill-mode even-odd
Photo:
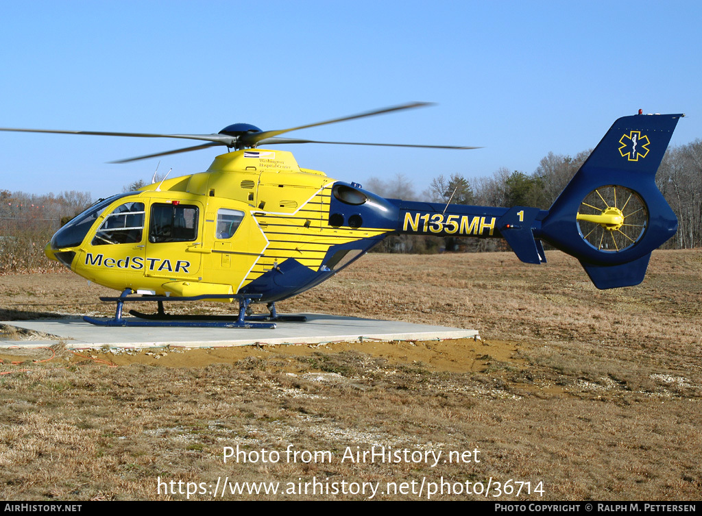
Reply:
[[[649,212],[634,190],[607,185],[585,196],[577,220],[581,236],[597,251],[620,253],[644,236]]]

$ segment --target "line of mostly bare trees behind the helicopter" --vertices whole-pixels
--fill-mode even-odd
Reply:
[[[548,209],[590,155],[575,157],[549,152],[532,173],[500,168],[491,176],[465,178],[461,173],[439,174],[428,190],[398,174],[388,180],[371,178],[366,190],[391,199],[430,200],[478,206],[535,206]],[[124,191],[143,186],[143,180],[125,185]],[[667,249],[702,246],[702,140],[671,147],[656,175],[656,184],[677,215],[679,227]],[[0,273],[53,270],[58,265],[44,258],[44,246],[68,220],[93,204],[89,192],[25,194],[0,188]],[[376,247],[388,253],[441,251],[506,251],[501,239],[460,239],[393,235]]]

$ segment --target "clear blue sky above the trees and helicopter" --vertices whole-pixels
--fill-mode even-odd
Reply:
[[[702,138],[701,21],[694,1],[2,2],[0,126],[216,133],[436,102],[286,136],[485,148],[277,147],[340,180],[402,173],[419,193],[442,173],[531,173],[640,107],[688,115],[673,145]],[[187,145],[0,133],[0,188],[105,197],[159,159],[107,161]],[[216,154],[159,171],[204,171]]]

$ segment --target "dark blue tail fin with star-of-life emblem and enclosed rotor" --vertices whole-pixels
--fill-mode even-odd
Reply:
[[[651,251],[677,230],[655,177],[682,116],[614,122],[535,230],[578,258],[598,289],[642,282]]]

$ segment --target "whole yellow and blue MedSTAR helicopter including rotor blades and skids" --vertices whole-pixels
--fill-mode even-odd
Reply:
[[[578,258],[598,289],[640,284],[651,251],[673,237],[677,218],[654,181],[684,114],[639,114],[614,122],[550,209],[385,199],[357,183],[302,168],[293,143],[474,149],[448,145],[326,142],[281,138],[291,131],[428,105],[411,102],[281,130],[232,124],[213,134],[116,133],[0,128],[0,131],[199,140],[199,145],[114,161],[225,146],[206,171],[164,178],[101,199],[56,232],[46,256],[81,277],[121,291],[103,326],[274,328],[275,303],[311,289],[390,234],[503,238],[525,263],[545,263],[543,242]],[[271,149],[270,147],[274,147]],[[449,201],[450,203],[450,201]],[[133,296],[136,294],[136,296]],[[156,314],[124,303],[150,300]],[[230,316],[170,315],[176,300],[238,301]],[[267,315],[251,315],[266,303]]]

